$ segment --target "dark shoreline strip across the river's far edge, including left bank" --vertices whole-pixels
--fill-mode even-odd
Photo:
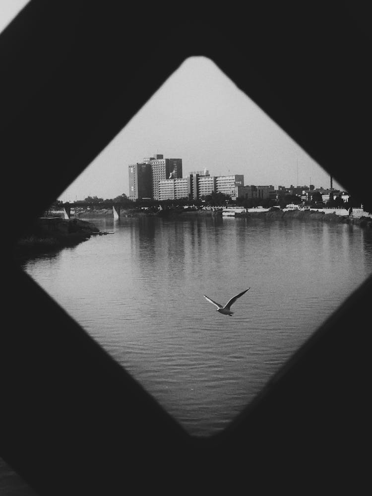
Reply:
[[[221,216],[222,208],[212,209],[185,209],[183,207],[168,208],[166,210],[150,211],[142,209],[122,209],[121,218],[124,217],[163,217],[170,219],[187,219],[195,216]],[[31,253],[59,250],[61,248],[76,246],[94,235],[112,234],[101,232],[93,222],[100,219],[111,219],[112,209],[79,209],[76,217],[63,218],[63,212],[50,212],[49,216],[41,217],[30,227],[15,245],[14,255],[22,258]],[[245,211],[236,213],[237,217],[258,218],[262,220],[298,219],[305,222],[332,222],[357,225],[361,228],[372,229],[372,217],[353,217],[337,215],[336,213],[317,212],[312,210],[279,210]],[[87,220],[89,219],[89,220]]]

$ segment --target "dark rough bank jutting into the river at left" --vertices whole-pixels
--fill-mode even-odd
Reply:
[[[100,234],[94,224],[80,220],[65,220],[61,217],[43,217],[30,227],[16,244],[16,254],[30,251],[58,249],[73,246]]]

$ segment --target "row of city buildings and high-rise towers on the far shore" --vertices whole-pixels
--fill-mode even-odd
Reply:
[[[181,158],[164,158],[156,154],[128,166],[129,199],[202,200],[213,193],[222,193],[232,200],[279,200],[284,195],[297,196],[301,202],[327,204],[338,197],[347,203],[349,194],[333,188],[332,177],[328,188],[309,186],[245,185],[243,174],[210,176],[206,168],[191,171],[183,177]]]

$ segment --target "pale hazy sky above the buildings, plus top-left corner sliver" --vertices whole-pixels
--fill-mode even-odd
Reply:
[[[0,1],[0,29],[25,3]],[[329,175],[214,62],[191,57],[60,199],[128,194],[128,165],[156,153],[182,158],[184,176],[207,168],[212,176],[244,174],[246,185],[330,184]]]

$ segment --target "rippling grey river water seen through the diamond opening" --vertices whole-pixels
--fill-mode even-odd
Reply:
[[[192,435],[222,430],[372,273],[372,233],[297,219],[98,219],[24,270]],[[203,295],[225,304],[221,315]]]

